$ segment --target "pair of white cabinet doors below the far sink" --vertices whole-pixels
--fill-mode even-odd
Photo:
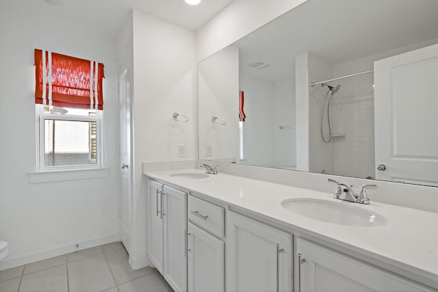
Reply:
[[[149,180],[149,260],[177,292],[187,291],[187,193]]]

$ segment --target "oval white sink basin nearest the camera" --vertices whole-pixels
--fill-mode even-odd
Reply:
[[[388,223],[388,220],[378,213],[346,205],[344,202],[296,198],[283,200],[281,206],[298,215],[334,224],[373,227]]]

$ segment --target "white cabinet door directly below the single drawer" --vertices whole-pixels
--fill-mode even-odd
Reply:
[[[225,243],[189,223],[188,287],[190,292],[225,291]]]

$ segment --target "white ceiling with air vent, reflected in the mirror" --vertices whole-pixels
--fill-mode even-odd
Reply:
[[[244,70],[274,81],[302,53],[334,65],[435,38],[437,0],[309,0],[234,45]],[[249,69],[254,61],[271,66]]]

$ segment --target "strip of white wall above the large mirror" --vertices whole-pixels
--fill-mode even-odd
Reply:
[[[196,32],[201,61],[307,0],[235,0]]]

